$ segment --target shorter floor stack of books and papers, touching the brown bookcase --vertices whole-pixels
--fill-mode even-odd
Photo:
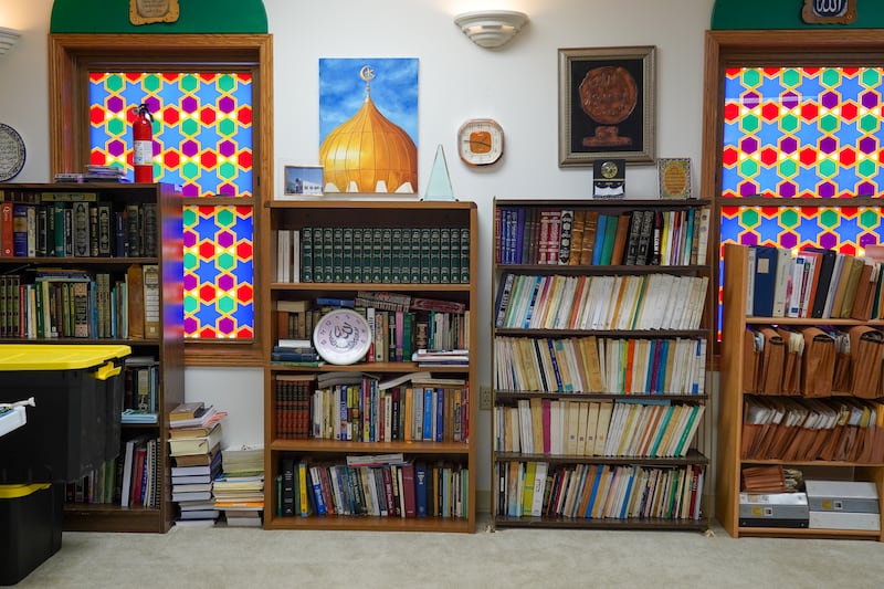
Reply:
[[[264,448],[244,445],[221,451],[223,472],[215,477],[215,508],[230,527],[261,527],[264,512]]]

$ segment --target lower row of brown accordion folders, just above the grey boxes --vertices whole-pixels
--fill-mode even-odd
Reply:
[[[884,402],[746,396],[740,454],[753,460],[882,463]]]

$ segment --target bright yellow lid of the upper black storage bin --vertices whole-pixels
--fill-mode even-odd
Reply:
[[[122,345],[4,344],[0,345],[0,371],[92,368],[129,354],[131,348]]]

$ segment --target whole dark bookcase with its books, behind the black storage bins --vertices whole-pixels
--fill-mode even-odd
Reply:
[[[180,193],[165,183],[1,183],[0,207],[0,341],[129,346],[118,377],[124,408],[156,416],[124,421],[120,456],[69,482],[64,529],[168,530],[167,414],[185,396]],[[145,366],[149,389],[139,390],[131,378]],[[123,460],[134,438],[154,441],[143,476],[149,491],[123,507]]]

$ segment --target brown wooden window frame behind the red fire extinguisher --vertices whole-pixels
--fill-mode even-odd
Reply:
[[[88,162],[87,72],[99,64],[139,71],[243,67],[253,73],[253,173],[251,198],[187,198],[185,204],[253,207],[254,338],[187,339],[186,366],[262,366],[267,350],[261,293],[267,285],[264,201],[273,191],[273,40],[269,34],[50,34],[50,177]]]

